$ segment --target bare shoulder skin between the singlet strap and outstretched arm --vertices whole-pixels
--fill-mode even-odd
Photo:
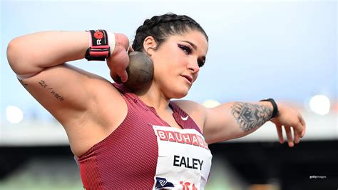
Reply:
[[[207,111],[205,106],[190,100],[174,100],[173,103],[185,111],[203,131]]]

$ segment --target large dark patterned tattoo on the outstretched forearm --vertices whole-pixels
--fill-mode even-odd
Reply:
[[[235,102],[231,107],[231,113],[237,124],[243,131],[250,131],[256,126],[262,126],[272,116],[272,109],[268,106]]]

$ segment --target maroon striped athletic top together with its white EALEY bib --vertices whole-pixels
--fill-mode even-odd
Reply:
[[[76,158],[85,189],[204,189],[211,158],[195,121],[173,101],[170,127],[122,84],[128,114],[106,139]]]

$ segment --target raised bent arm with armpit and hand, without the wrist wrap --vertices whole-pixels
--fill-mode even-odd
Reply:
[[[129,41],[123,34],[115,36],[115,50],[106,61],[122,75]],[[88,46],[86,31],[44,31],[17,37],[7,48],[19,81],[63,125],[77,156],[110,134],[126,114],[126,102],[109,81],[66,64],[83,59]]]

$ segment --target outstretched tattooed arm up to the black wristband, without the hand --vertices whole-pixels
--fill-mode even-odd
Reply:
[[[272,106],[229,102],[207,109],[205,139],[208,143],[235,139],[252,133],[270,119]]]

